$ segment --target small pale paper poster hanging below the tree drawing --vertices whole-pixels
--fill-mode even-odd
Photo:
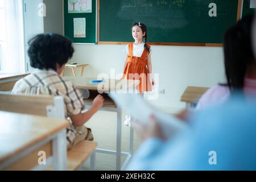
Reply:
[[[74,38],[86,38],[86,19],[74,18]]]

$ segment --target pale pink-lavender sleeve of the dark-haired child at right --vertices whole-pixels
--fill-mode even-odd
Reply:
[[[200,98],[196,110],[204,109],[205,107],[222,104],[229,97],[229,88],[228,86],[216,85],[208,89],[207,92],[203,94]]]

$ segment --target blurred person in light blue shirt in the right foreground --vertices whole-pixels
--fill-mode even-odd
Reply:
[[[251,32],[256,52],[256,19]],[[191,130],[180,131],[172,138],[164,138],[153,116],[148,125],[132,123],[144,142],[126,169],[256,170],[255,98],[236,89],[224,104],[185,118]]]

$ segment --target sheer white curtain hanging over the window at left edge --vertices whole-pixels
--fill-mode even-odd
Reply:
[[[6,17],[5,59],[1,69],[8,73],[24,73],[23,3],[21,0],[0,1],[4,1]]]

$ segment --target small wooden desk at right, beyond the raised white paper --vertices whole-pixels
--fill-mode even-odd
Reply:
[[[188,86],[181,96],[180,101],[186,102],[186,107],[191,108],[197,104],[201,96],[208,90],[207,87]]]

